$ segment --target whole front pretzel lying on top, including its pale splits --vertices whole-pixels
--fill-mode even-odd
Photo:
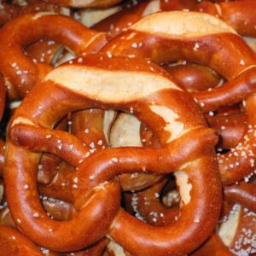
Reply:
[[[9,123],[4,177],[15,224],[54,251],[78,250],[108,235],[136,255],[191,252],[212,233],[221,205],[215,131],[189,94],[150,61],[86,55],[72,63],[34,87]],[[50,129],[65,114],[85,108],[132,109],[161,147],[107,148],[90,155],[79,138]],[[77,167],[70,185],[78,213],[71,220],[49,218],[40,204],[36,170],[42,151]],[[153,227],[120,208],[116,176],[132,172],[175,172],[182,201],[175,224]]]

